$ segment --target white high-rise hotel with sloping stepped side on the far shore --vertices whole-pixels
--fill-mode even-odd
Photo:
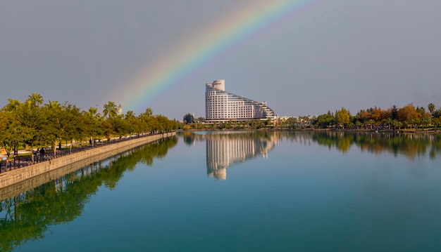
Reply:
[[[266,102],[256,102],[225,91],[225,80],[216,80],[205,86],[205,121],[274,121],[273,110]]]

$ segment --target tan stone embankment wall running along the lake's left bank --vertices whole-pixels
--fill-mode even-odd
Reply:
[[[44,181],[44,183],[49,182],[50,180],[59,178],[70,171],[74,171],[73,169],[75,168],[81,168],[82,166],[92,164],[95,161],[112,157],[120,152],[125,152],[132,148],[145,145],[149,142],[154,142],[161,138],[168,138],[175,134],[175,132],[170,132],[149,135],[142,138],[134,138],[132,140],[118,142],[113,145],[106,145],[103,147],[85,150],[83,152],[77,152],[65,157],[52,159],[51,161],[34,164],[25,168],[19,168],[14,171],[0,173],[0,189],[4,187],[11,187],[5,188],[10,190],[0,190],[0,199],[5,199],[4,197],[6,197],[6,194],[10,195],[11,192],[24,192],[26,190],[30,190],[34,188],[32,186],[36,184],[42,185],[40,181]]]

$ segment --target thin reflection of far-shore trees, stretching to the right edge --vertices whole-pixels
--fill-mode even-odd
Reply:
[[[213,135],[224,135],[225,138],[273,138],[290,140],[304,144],[317,142],[328,148],[335,148],[341,152],[348,152],[352,146],[357,146],[361,151],[380,154],[390,152],[397,156],[402,154],[409,159],[428,154],[430,159],[435,159],[441,152],[441,135],[433,134],[399,134],[399,133],[374,133],[374,132],[347,132],[347,131],[227,131],[207,134],[192,133],[186,135],[188,141],[201,141],[213,138]]]

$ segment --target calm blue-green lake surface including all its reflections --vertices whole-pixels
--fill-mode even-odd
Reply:
[[[5,200],[0,251],[441,251],[441,138],[179,133]]]

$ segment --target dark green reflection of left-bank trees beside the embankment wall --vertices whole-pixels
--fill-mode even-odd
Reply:
[[[177,142],[178,138],[173,137],[135,148],[112,157],[106,167],[97,162],[2,201],[0,251],[12,251],[26,241],[42,239],[50,225],[74,220],[102,184],[114,188],[125,171],[135,168],[139,161],[150,166],[155,157],[164,157]]]

